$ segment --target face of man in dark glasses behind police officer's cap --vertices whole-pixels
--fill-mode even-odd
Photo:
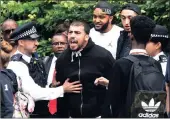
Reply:
[[[9,38],[10,35],[12,34],[12,32],[18,27],[18,25],[16,24],[16,22],[14,21],[6,21],[3,25],[2,25],[2,36],[3,39],[10,42]]]

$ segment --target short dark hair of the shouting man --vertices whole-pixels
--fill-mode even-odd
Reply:
[[[90,26],[83,21],[73,21],[70,26],[84,26],[84,31],[86,34],[90,33]]]

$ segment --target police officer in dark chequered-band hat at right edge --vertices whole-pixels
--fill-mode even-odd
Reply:
[[[146,45],[148,54],[161,63],[164,76],[167,65],[166,50],[169,40],[168,29],[165,26],[156,25],[151,34],[151,39]]]

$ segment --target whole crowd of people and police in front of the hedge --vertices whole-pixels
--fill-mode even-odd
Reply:
[[[168,29],[136,4],[114,23],[107,1],[84,21],[56,26],[51,54],[39,57],[37,24],[2,25],[1,118],[170,117]],[[42,34],[43,35],[43,34]]]

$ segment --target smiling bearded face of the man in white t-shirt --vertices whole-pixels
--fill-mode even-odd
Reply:
[[[108,30],[108,26],[112,24],[113,16],[107,15],[100,8],[96,8],[93,12],[93,23],[96,31],[105,33]]]

